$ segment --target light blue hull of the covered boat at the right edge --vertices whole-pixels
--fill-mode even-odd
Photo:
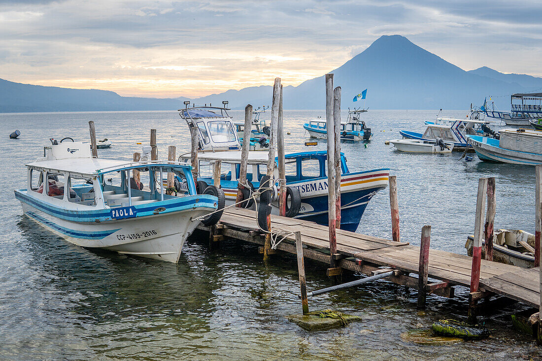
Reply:
[[[468,141],[481,160],[522,165],[542,164],[542,154],[504,149],[496,139],[469,136]]]

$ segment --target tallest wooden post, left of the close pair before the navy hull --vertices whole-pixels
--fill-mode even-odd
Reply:
[[[333,120],[333,74],[326,74],[326,131],[327,131],[327,212],[330,236],[330,269],[328,275],[334,275],[335,253],[337,253],[337,208],[335,207],[335,124]]]

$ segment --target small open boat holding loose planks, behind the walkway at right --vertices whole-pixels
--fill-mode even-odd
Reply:
[[[534,266],[534,235],[517,229],[499,229],[493,234],[493,261],[524,268]],[[467,237],[467,254],[473,253],[473,236]],[[482,245],[485,242],[482,241]],[[485,256],[485,247],[482,247]]]

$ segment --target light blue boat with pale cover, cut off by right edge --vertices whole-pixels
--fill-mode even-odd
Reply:
[[[468,142],[481,160],[522,165],[542,164],[542,132],[503,129],[499,139],[469,136]]]

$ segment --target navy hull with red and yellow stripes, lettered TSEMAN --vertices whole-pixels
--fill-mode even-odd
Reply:
[[[390,170],[384,168],[341,176],[341,229],[356,231],[367,203],[378,191],[388,186],[389,175]],[[295,218],[327,225],[327,178],[289,182],[287,185],[298,188],[301,194],[301,209]],[[226,205],[234,204],[237,189],[224,188],[224,193]],[[274,201],[271,206],[272,214],[278,215],[279,202]]]

